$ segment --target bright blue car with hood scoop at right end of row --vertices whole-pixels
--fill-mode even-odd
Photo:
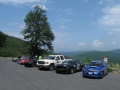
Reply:
[[[83,77],[103,78],[108,74],[108,66],[104,60],[92,60],[83,70]]]

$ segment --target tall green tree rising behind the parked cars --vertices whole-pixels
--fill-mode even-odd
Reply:
[[[21,33],[29,44],[29,53],[44,55],[53,52],[52,41],[55,36],[47,20],[46,11],[35,6],[33,11],[28,12],[24,22],[26,26]]]

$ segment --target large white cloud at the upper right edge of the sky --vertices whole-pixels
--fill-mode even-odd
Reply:
[[[100,18],[99,24],[112,31],[120,31],[120,5],[102,9],[104,16]]]

